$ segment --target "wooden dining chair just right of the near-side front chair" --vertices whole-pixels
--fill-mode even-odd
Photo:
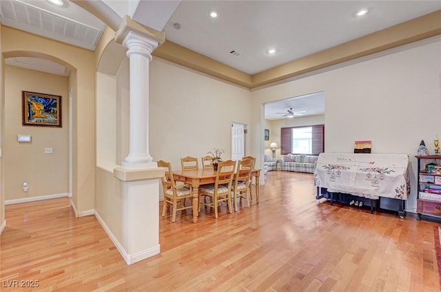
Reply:
[[[238,200],[239,203],[242,203],[242,199],[245,199],[247,207],[249,207],[249,177],[251,175],[252,166],[253,159],[243,158],[238,162],[231,189],[235,211],[238,211]]]

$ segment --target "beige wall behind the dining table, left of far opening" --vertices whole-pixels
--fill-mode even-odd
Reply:
[[[203,157],[212,148],[231,158],[231,123],[248,125],[251,93],[161,58],[150,67],[150,154],[180,169],[180,158]],[[249,143],[246,155],[253,153]]]

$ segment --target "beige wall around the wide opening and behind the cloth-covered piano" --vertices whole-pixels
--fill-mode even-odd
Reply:
[[[261,104],[318,91],[325,92],[325,150],[352,153],[353,142],[372,141],[373,153],[409,155],[412,194],[407,210],[416,212],[416,150],[424,139],[429,150],[441,136],[441,40],[371,56],[253,92],[253,126]],[[263,138],[260,138],[263,139]],[[254,143],[260,139],[254,137]]]

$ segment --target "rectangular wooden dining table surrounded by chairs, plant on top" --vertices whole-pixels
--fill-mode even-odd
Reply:
[[[260,169],[251,171],[251,177],[256,178],[256,203],[259,203],[259,177]],[[216,172],[212,168],[200,168],[195,170],[174,170],[173,178],[175,181],[183,181],[192,186],[193,189],[193,223],[198,222],[198,195],[199,186],[214,183],[216,181]],[[249,192],[252,199],[251,183],[249,184]]]

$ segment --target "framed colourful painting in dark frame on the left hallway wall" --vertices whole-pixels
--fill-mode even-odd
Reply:
[[[23,126],[61,127],[61,96],[21,91]]]

